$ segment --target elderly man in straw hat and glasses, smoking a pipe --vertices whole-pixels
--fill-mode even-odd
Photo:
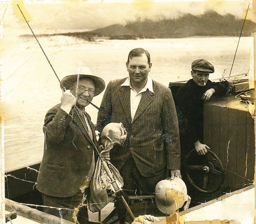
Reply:
[[[97,146],[94,125],[85,107],[104,90],[105,82],[93,76],[89,68],[80,67],[61,83],[67,89],[63,90],[61,103],[44,119],[44,155],[36,188],[42,193],[44,205],[51,206],[44,207],[44,212],[72,222],[78,218],[82,224],[88,222],[87,207],[81,203],[89,192],[96,157],[93,144]]]

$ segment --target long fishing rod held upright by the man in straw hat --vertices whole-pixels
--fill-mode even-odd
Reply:
[[[17,6],[18,6],[18,8],[20,9],[20,7],[19,7],[18,4],[17,4]],[[27,19],[25,18],[25,16],[23,15],[21,9],[20,9],[20,12],[21,12],[22,16],[24,17],[26,23],[28,24],[28,21],[27,21]],[[36,38],[36,35],[34,34],[33,30],[32,30],[31,27],[29,26],[29,24],[28,24],[28,27],[30,28],[32,34],[33,34],[34,37]],[[44,50],[43,50],[43,48],[41,47],[41,44],[39,43],[39,41],[37,40],[37,38],[36,38],[36,41],[37,41],[37,43],[39,44],[41,50],[42,50],[43,53],[44,53]],[[60,82],[61,88],[66,91],[66,88],[65,88],[65,87],[63,86],[63,84],[61,83],[59,77],[57,76],[56,72],[54,71],[54,69],[53,69],[53,67],[52,67],[52,64],[50,63],[50,61],[49,61],[49,59],[48,59],[48,57],[46,56],[45,53],[44,53],[44,56],[46,57],[46,59],[47,59],[48,63],[50,64],[50,66],[51,66],[51,68],[52,68],[52,70],[53,70],[55,76],[57,77],[58,81]],[[92,104],[92,106],[94,106],[94,107],[97,108],[98,110],[100,109],[99,107],[97,107],[96,105],[94,105],[93,103],[91,103],[90,101],[87,101],[87,102],[89,102],[90,104]],[[87,134],[88,137],[89,137],[89,136],[90,136],[90,135],[89,135],[89,132],[88,132],[87,128],[85,127],[85,124],[84,124],[84,122],[82,121],[82,118],[81,118],[81,116],[80,116],[80,114],[79,114],[79,112],[78,112],[76,106],[74,107],[74,109],[75,109],[75,111],[76,111],[76,114],[77,114],[78,117],[79,117],[80,122],[82,123],[82,125],[83,125],[83,127],[84,127],[84,130],[85,130],[86,134]],[[90,138],[90,137],[89,137],[89,138]],[[131,220],[133,221],[133,220],[135,219],[135,217],[134,217],[134,215],[133,215],[133,213],[132,213],[131,208],[129,207],[129,205],[127,204],[127,202],[126,202],[125,199],[124,199],[124,192],[123,192],[122,188],[120,188],[120,187],[118,186],[118,184],[116,183],[116,179],[113,177],[113,175],[112,175],[110,169],[108,168],[108,165],[107,165],[106,161],[102,158],[102,156],[101,156],[101,154],[100,154],[98,148],[95,146],[93,140],[92,140],[91,138],[90,138],[90,140],[91,140],[91,143],[92,143],[92,145],[93,145],[93,147],[94,147],[96,153],[98,154],[98,156],[99,156],[99,158],[100,158],[100,160],[101,160],[101,164],[102,164],[104,170],[106,171],[106,174],[107,174],[108,177],[110,178],[110,181],[111,181],[110,184],[111,184],[111,186],[112,186],[112,188],[113,188],[113,190],[114,190],[114,192],[115,192],[115,194],[116,194],[116,197],[118,197],[118,198],[121,199],[121,201],[123,202],[125,208],[127,209],[127,214],[130,216]]]

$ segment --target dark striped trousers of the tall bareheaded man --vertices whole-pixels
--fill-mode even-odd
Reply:
[[[166,178],[166,168],[160,173],[152,177],[145,177],[140,174],[136,167],[132,155],[119,171],[124,179],[124,198],[127,201],[127,196],[130,195],[150,195],[154,194],[156,184]],[[127,217],[127,210],[125,209],[121,199],[115,201],[117,214],[120,224],[124,224]]]

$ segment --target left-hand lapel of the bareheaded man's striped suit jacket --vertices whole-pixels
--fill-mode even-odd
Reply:
[[[129,86],[120,86],[120,95],[118,96],[119,101],[122,105],[124,115],[128,122],[132,123],[131,118],[131,89]]]

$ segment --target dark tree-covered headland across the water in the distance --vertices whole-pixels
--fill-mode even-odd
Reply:
[[[62,33],[62,35],[76,36],[87,41],[97,38],[131,40],[191,36],[239,36],[243,22],[244,19],[237,19],[232,14],[222,16],[215,11],[208,11],[200,16],[185,14],[177,19],[159,19],[158,21],[136,19],[135,22],[128,22],[126,25],[114,24],[92,31]],[[246,20],[242,36],[250,36],[254,32],[256,32],[256,23]]]

